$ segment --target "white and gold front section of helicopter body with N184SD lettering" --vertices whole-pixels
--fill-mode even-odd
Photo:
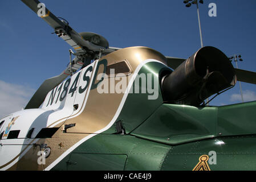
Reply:
[[[19,117],[12,129],[21,130],[21,132],[18,139],[2,138],[0,168],[2,170],[51,169],[80,144],[109,129],[119,116],[128,92],[100,94],[96,89],[99,82],[96,78],[106,71],[107,65],[121,60],[128,62],[133,73],[125,75],[131,76],[127,82],[128,92],[144,64],[156,62],[166,67],[163,64],[165,57],[161,53],[151,48],[132,47],[110,53],[83,68],[51,90],[40,109],[26,109],[13,113],[11,117]],[[88,80],[87,77],[90,79]],[[111,77],[104,78],[104,80],[107,79]],[[71,84],[74,82],[77,82],[76,89],[67,93],[67,90],[74,86]],[[74,109],[74,105],[78,105],[78,109]],[[63,133],[64,126],[70,123],[75,123],[75,127]],[[7,122],[2,129],[6,125],[8,125]],[[51,138],[35,138],[41,129],[50,127],[58,128]],[[32,128],[34,131],[31,138],[26,138],[28,131]],[[46,164],[38,164],[37,154],[42,150],[40,146],[43,145],[51,148],[51,154],[46,159]]]

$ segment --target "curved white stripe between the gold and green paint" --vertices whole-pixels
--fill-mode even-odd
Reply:
[[[95,135],[97,135],[97,134],[99,134],[99,133],[102,133],[102,132],[105,131],[105,130],[108,130],[108,129],[113,125],[113,123],[115,123],[117,117],[119,116],[121,110],[123,109],[125,100],[126,100],[126,98],[127,98],[127,96],[128,96],[129,90],[130,90],[131,87],[132,87],[133,81],[135,80],[135,78],[136,78],[137,74],[139,73],[141,67],[143,67],[144,64],[147,64],[147,63],[149,63],[149,62],[157,62],[157,63],[164,64],[164,63],[162,63],[162,62],[160,62],[160,61],[157,61],[157,60],[154,60],[154,59],[147,59],[147,60],[142,61],[142,62],[138,65],[138,67],[136,68],[135,72],[133,73],[132,78],[131,78],[131,80],[130,80],[128,86],[127,86],[127,89],[125,90],[124,96],[123,96],[123,98],[122,98],[122,100],[121,100],[121,102],[120,102],[120,105],[119,105],[119,107],[118,107],[118,109],[117,109],[117,111],[116,111],[116,114],[115,114],[114,117],[112,118],[111,122],[109,122],[108,125],[105,126],[103,129],[98,130],[98,131],[95,131],[94,134],[90,134],[90,135],[88,135],[87,137],[85,137],[85,138],[79,140],[78,143],[74,144],[74,146],[70,147],[67,151],[65,151],[62,155],[60,155],[58,159],[56,159],[53,163],[51,163],[51,164],[45,169],[46,171],[50,170],[52,167],[54,167],[56,164],[58,164],[63,158],[65,158],[68,154],[70,154],[70,152],[72,152],[73,150],[75,150],[75,148],[78,147],[80,144],[82,144],[82,143],[85,142],[86,140],[88,140],[88,139],[94,137]]]

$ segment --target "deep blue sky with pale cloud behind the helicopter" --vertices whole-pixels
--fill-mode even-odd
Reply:
[[[188,58],[200,47],[196,6],[180,1],[57,1],[44,0],[56,16],[77,32],[103,35],[112,47],[147,46],[165,56]],[[217,16],[210,17],[209,3]],[[256,1],[204,1],[200,18],[204,46],[227,56],[240,53],[238,67],[256,72]],[[21,1],[0,2],[0,117],[21,109],[46,78],[68,64],[70,46]],[[235,65],[234,65],[235,66]],[[256,85],[242,83],[246,100],[256,100]],[[211,105],[240,102],[239,84]],[[19,102],[17,102],[19,101]]]

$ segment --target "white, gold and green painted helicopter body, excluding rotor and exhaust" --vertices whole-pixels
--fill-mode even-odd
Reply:
[[[129,67],[122,76],[128,80],[126,92],[99,93],[97,86],[111,82],[114,75],[107,75],[103,80],[97,77],[101,78],[101,73],[108,73],[111,65],[120,61]],[[21,131],[18,139],[1,139],[0,168],[254,170],[256,102],[202,108],[166,104],[162,100],[160,80],[157,82],[159,97],[155,100],[148,100],[149,93],[131,92],[140,73],[152,73],[158,78],[163,71],[172,72],[163,63],[164,56],[150,48],[120,49],[51,90],[42,108],[26,109],[2,118],[5,123],[1,133],[6,128]],[[63,91],[65,84],[71,92]],[[121,133],[117,130],[119,125],[123,127]],[[35,138],[46,127],[58,130],[51,138]],[[26,138],[32,128],[35,129],[31,138]],[[38,164],[37,154],[45,145],[51,148],[51,154],[45,164]],[[211,152],[217,154],[215,163]]]

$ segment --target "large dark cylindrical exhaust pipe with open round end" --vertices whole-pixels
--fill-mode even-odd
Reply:
[[[161,80],[165,102],[199,106],[237,81],[227,56],[214,47],[203,47]]]

